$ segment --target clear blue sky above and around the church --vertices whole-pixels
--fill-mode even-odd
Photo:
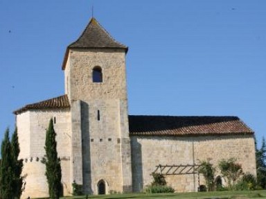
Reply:
[[[127,53],[130,114],[239,116],[266,135],[266,1],[1,0],[0,139],[64,94],[64,51],[94,17]]]

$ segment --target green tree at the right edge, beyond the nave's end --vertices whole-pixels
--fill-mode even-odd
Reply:
[[[260,149],[256,144],[256,164],[258,185],[266,189],[266,144],[264,137]]]

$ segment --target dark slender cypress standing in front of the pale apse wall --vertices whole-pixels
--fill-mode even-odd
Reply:
[[[46,178],[48,182],[49,196],[51,199],[60,197],[61,189],[61,166],[60,159],[57,157],[57,143],[55,141],[55,130],[53,128],[53,119],[50,120],[48,130],[46,130],[45,151],[46,151]]]

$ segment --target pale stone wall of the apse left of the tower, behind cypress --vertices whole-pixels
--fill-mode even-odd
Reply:
[[[17,115],[21,148],[19,158],[24,159],[23,175],[26,175],[26,187],[22,198],[48,196],[45,164],[42,164],[41,160],[45,155],[46,129],[51,118],[55,118],[54,129],[57,133],[55,139],[57,153],[61,158],[64,195],[70,194],[70,112],[69,110],[30,110]]]

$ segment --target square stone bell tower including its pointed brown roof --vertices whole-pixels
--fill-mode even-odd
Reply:
[[[127,49],[91,18],[64,56],[71,104],[70,176],[85,193],[132,191]]]

